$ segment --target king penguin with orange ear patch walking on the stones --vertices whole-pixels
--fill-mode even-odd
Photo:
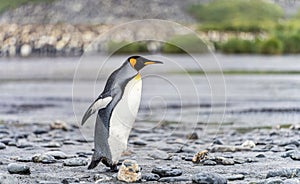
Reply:
[[[112,170],[127,148],[129,133],[141,100],[142,80],[139,71],[150,64],[162,64],[142,56],[131,56],[108,78],[103,92],[85,112],[81,124],[98,111],[94,132],[94,154],[88,169],[101,161]]]

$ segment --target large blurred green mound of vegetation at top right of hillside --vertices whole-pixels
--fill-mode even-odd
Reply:
[[[201,22],[201,30],[249,31],[268,30],[281,18],[283,10],[264,0],[213,0],[192,5],[188,11]]]

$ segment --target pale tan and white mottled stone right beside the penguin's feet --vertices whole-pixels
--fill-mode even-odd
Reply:
[[[118,180],[132,183],[141,180],[141,168],[135,160],[124,160],[117,175]]]

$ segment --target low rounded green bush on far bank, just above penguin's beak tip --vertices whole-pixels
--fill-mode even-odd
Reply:
[[[163,53],[204,53],[207,46],[196,35],[177,35],[162,46]]]

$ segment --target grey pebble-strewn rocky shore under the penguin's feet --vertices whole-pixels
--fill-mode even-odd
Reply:
[[[136,124],[120,161],[127,159],[119,168],[136,171],[136,178],[141,178],[137,182],[300,182],[299,125],[247,132],[230,127],[204,131],[201,125],[194,132],[172,124],[149,127],[153,125]],[[122,172],[111,172],[102,164],[87,170],[93,139],[84,138],[83,131],[62,121],[2,122],[1,183],[121,183]]]

